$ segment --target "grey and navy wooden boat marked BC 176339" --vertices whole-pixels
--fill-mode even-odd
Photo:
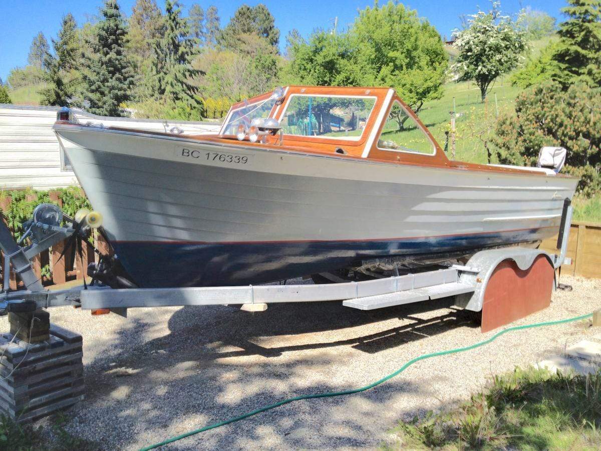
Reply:
[[[277,88],[198,135],[65,112],[53,130],[138,287],[260,284],[535,247],[557,234],[578,182],[557,168],[451,161],[391,88]]]

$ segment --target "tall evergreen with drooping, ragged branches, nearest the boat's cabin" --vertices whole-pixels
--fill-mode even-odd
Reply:
[[[194,40],[189,36],[188,21],[183,19],[179,4],[166,0],[165,34],[154,41],[148,82],[155,97],[172,102],[184,101],[189,105],[200,104],[194,96],[197,87],[191,84],[191,79],[199,71],[191,66],[192,57],[197,52]]]

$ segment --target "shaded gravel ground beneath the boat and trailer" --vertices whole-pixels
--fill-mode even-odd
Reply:
[[[550,308],[516,324],[601,308],[601,280],[561,281],[573,291],[555,293]],[[105,449],[138,449],[285,397],[366,385],[410,358],[494,333],[481,334],[445,300],[371,312],[320,302],[273,304],[263,313],[139,308],[127,319],[70,307],[50,313],[52,322],[84,337],[86,397],[66,411],[66,429]],[[6,318],[0,321],[7,330]],[[589,325],[507,334],[483,348],[421,361],[373,390],[294,402],[165,448],[377,447],[399,419],[453,405],[495,373],[601,333]]]

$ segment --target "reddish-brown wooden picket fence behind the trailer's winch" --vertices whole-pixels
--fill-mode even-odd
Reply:
[[[62,203],[58,194],[58,192],[50,191],[50,200],[58,203],[62,207]],[[28,198],[27,200],[35,200],[35,196],[32,195],[31,198]],[[0,210],[7,209],[10,202],[10,197],[2,198],[0,201]],[[0,220],[4,220],[1,212]],[[90,244],[86,243],[85,245],[82,245],[81,253],[76,252],[72,246],[66,250],[66,245],[66,242],[59,242],[53,245],[49,250],[38,254],[32,260],[35,274],[37,277],[41,278],[44,286],[61,284],[70,280],[81,280],[86,275],[88,264],[96,261],[94,249]],[[96,248],[99,248],[100,246],[102,249],[106,249],[105,243],[103,242],[97,241],[95,245]],[[1,251],[0,259],[0,265],[2,265],[2,271],[0,271],[1,285],[4,283],[4,253]],[[42,274],[43,268],[50,269],[50,277],[48,277],[47,271],[44,271],[44,275]],[[13,268],[10,268],[10,289],[15,290],[22,287],[23,283],[20,280],[17,280]]]

